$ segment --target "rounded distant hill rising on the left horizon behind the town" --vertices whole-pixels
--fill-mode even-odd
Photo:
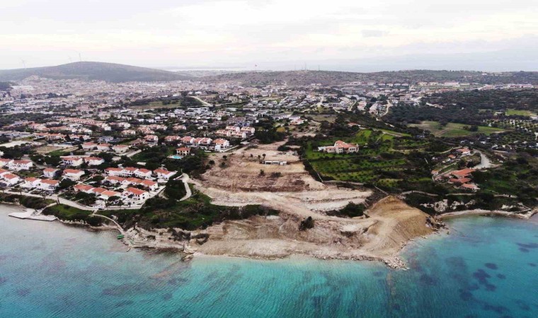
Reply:
[[[58,66],[0,70],[0,81],[21,81],[22,79],[33,75],[53,79],[78,78],[82,80],[108,82],[181,81],[190,79],[190,76],[159,69],[148,69],[145,67],[123,64],[80,61]]]

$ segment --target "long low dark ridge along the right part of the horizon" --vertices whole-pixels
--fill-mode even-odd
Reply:
[[[380,83],[416,83],[419,81],[461,81],[484,84],[532,83],[538,84],[538,72],[483,73],[479,71],[384,71],[375,73],[353,73],[342,71],[258,71],[227,73],[205,76],[200,81],[236,81],[248,85],[287,83],[290,86],[321,83],[339,85],[353,81],[374,81]]]

